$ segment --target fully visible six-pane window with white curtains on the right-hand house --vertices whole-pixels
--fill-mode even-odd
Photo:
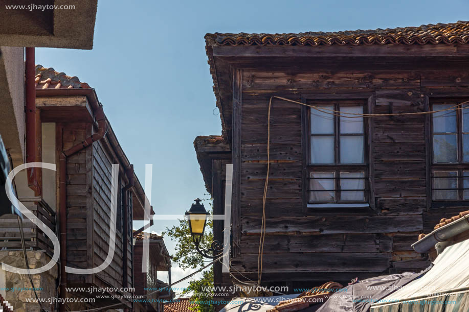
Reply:
[[[309,109],[309,203],[366,203],[365,103],[308,104],[320,107]]]

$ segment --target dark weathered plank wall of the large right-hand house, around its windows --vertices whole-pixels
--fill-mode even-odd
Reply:
[[[257,272],[267,160],[267,106],[271,95],[299,101],[363,99],[369,102],[373,113],[422,112],[426,96],[434,92],[444,94],[443,89],[434,88],[456,90],[452,89],[453,78],[466,74],[456,70],[446,75],[446,80],[440,76],[430,70],[242,70],[241,142],[235,145],[233,140],[233,154],[237,155],[240,148],[241,155],[240,246],[232,266],[240,272]],[[234,89],[238,83],[233,82]],[[300,105],[273,101],[263,271],[304,271],[314,279],[315,273],[323,278],[324,274],[319,273],[355,272],[360,276],[427,267],[429,262],[413,252],[410,245],[418,233],[428,232],[430,225],[433,228],[439,219],[451,217],[463,208],[427,211],[425,115],[376,117],[370,123],[369,161],[373,166],[372,204],[376,209],[371,213],[305,209],[302,160],[307,155],[302,152],[301,116]],[[235,125],[237,117],[233,118]],[[233,205],[236,209],[236,203]],[[234,238],[236,235],[233,233]],[[285,277],[271,276],[279,281]]]

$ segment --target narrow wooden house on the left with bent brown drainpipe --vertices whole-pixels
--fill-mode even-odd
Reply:
[[[56,164],[57,171],[42,170],[41,198],[58,217],[61,246],[60,297],[113,299],[95,305],[118,304],[131,308],[123,296],[135,287],[133,276],[132,220],[143,220],[145,194],[116,134],[106,118],[93,88],[77,77],[53,68],[36,66],[36,114],[43,162]],[[115,253],[104,270],[96,274],[67,273],[99,267],[109,250],[111,167],[118,164]],[[97,291],[65,291],[66,287],[104,287]],[[95,287],[95,288],[93,288]],[[113,291],[117,289],[118,291]],[[116,298],[116,299],[114,299]],[[121,299],[117,299],[121,298]],[[94,307],[92,304],[70,309]]]

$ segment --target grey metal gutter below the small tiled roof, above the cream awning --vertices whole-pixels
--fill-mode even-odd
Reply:
[[[446,239],[450,239],[465,231],[469,231],[469,214],[445,226],[437,228],[412,244],[412,248],[418,253],[426,253],[434,248],[435,244],[438,242],[446,241]]]

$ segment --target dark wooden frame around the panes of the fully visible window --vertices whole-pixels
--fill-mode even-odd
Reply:
[[[368,101],[368,103],[367,103]],[[336,100],[336,99],[331,99],[331,100],[303,100],[306,104],[309,105],[317,105],[317,106],[333,106],[334,110],[339,110],[340,107],[344,106],[362,106],[363,107],[363,112],[367,113],[369,111],[369,99],[351,99],[351,100]],[[304,126],[303,126],[303,132],[305,133],[305,140],[304,142],[304,149],[303,151],[305,152],[305,192],[304,192],[304,203],[305,206],[308,205],[322,205],[322,204],[339,204],[339,205],[347,205],[350,204],[351,208],[355,208],[354,205],[356,204],[364,204],[367,205],[367,207],[371,206],[370,200],[372,198],[371,196],[371,187],[370,187],[370,165],[369,165],[369,159],[370,159],[370,153],[369,153],[369,136],[370,136],[370,131],[369,131],[369,121],[367,118],[363,118],[363,138],[364,138],[364,163],[360,164],[341,164],[340,163],[340,136],[341,135],[358,135],[358,134],[340,134],[340,117],[339,116],[334,116],[334,133],[330,134],[330,136],[334,137],[334,162],[332,164],[314,164],[311,163],[311,137],[315,136],[315,134],[311,134],[311,120],[310,120],[310,110],[312,108],[306,107],[304,109],[303,114],[303,120],[304,120]],[[317,135],[322,135],[322,134],[317,134]],[[327,134],[325,134],[327,135]],[[321,173],[321,172],[334,172],[335,178],[334,178],[334,192],[335,192],[335,200],[334,201],[310,201],[310,173],[312,171]],[[340,200],[340,173],[341,172],[363,172],[364,173],[364,201],[342,201]],[[365,206],[364,206],[365,207]],[[364,208],[363,207],[363,208]],[[351,209],[347,208],[347,209]],[[308,209],[311,209],[308,207]]]

